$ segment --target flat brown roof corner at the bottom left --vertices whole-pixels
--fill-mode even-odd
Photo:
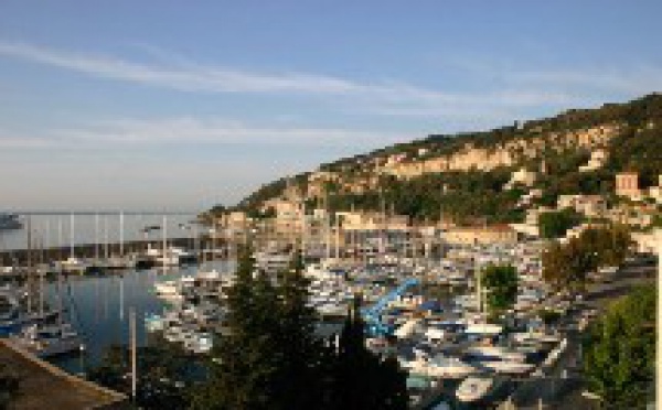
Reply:
[[[8,409],[127,409],[126,396],[71,376],[0,339],[0,363],[19,379]]]

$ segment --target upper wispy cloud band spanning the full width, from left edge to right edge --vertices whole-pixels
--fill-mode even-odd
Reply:
[[[147,55],[156,56],[156,61],[143,63],[7,41],[0,41],[0,56],[179,91],[329,96],[341,110],[351,107],[355,112],[386,116],[476,119],[504,112],[512,118],[522,108],[567,107],[585,104],[596,95],[636,96],[662,89],[662,71],[651,66],[629,71],[608,67],[525,69],[509,64],[480,64],[468,72],[467,80],[471,82],[474,76],[476,83],[485,87],[462,93],[388,79],[371,83],[321,74],[259,73],[209,66],[149,45],[141,47]],[[496,84],[490,84],[490,78],[496,78]]]

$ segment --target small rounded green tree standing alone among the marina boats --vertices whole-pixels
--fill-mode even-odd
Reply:
[[[487,266],[481,284],[488,290],[487,302],[491,314],[502,313],[513,306],[517,298],[517,271],[512,266]]]

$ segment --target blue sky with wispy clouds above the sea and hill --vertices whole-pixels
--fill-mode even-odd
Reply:
[[[0,1],[0,209],[201,211],[662,90],[662,1]]]

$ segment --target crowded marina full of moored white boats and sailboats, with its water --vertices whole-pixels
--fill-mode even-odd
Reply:
[[[135,314],[138,346],[166,343],[209,355],[215,335],[224,332],[235,266],[227,258],[239,244],[217,236],[203,246],[197,237],[179,239],[181,246],[167,237],[135,244],[115,244],[124,253],[108,259],[98,245],[88,245],[86,253],[74,245],[66,259],[42,257],[34,265],[26,253],[28,265],[14,271],[22,274],[6,269],[0,330],[8,343],[85,375],[109,346],[130,342],[128,321]],[[366,346],[395,355],[408,374],[413,407],[433,399],[459,408],[503,402],[522,380],[554,371],[565,355],[566,331],[545,324],[541,310],[564,317],[576,301],[551,292],[543,281],[541,241],[447,245],[439,257],[426,257],[420,248],[407,251],[407,244],[363,258],[334,247],[329,257],[303,253],[308,306],[317,311],[320,330],[340,328],[360,294]],[[293,255],[293,248],[274,242],[255,252],[256,269],[278,280]],[[489,319],[478,273],[505,265],[519,276],[515,303],[498,320]]]

